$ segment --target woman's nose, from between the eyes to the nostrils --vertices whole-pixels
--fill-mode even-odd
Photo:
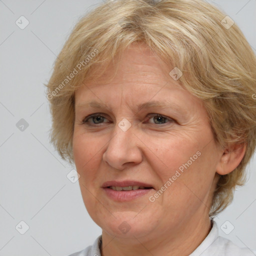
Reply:
[[[103,153],[103,161],[118,170],[139,164],[142,161],[142,152],[139,146],[141,141],[135,135],[136,131],[133,126],[131,125],[124,131],[116,123],[113,133]]]

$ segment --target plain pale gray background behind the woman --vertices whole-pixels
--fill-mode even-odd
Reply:
[[[100,2],[0,0],[0,255],[67,255],[100,234],[83,205],[78,181],[66,177],[74,166],[49,144],[51,121],[43,86],[73,25]],[[255,50],[256,0],[215,4],[237,22]],[[15,24],[21,15],[29,21],[24,29]],[[23,131],[16,127],[21,118],[28,123]],[[215,218],[220,235],[241,247],[256,248],[255,167],[254,155],[248,182]],[[24,234],[21,220],[29,226]],[[223,223],[223,230],[234,229],[225,234]]]

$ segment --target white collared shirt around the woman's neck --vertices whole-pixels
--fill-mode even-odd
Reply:
[[[101,235],[85,249],[69,256],[101,256]],[[240,248],[230,240],[218,235],[217,223],[212,220],[212,228],[201,244],[189,256],[255,256],[256,250]]]

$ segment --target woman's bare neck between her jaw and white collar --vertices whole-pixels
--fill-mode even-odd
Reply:
[[[131,235],[129,238],[111,236],[102,231],[102,256],[154,255],[186,256],[192,253],[204,240],[211,229],[208,215],[205,218],[191,217],[175,230],[151,232],[143,237]]]

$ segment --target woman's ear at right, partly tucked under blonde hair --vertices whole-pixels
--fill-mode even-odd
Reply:
[[[225,175],[233,171],[241,162],[245,149],[245,143],[231,143],[226,146],[216,165],[216,172]]]

